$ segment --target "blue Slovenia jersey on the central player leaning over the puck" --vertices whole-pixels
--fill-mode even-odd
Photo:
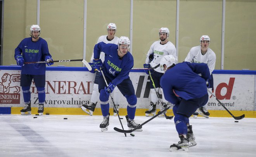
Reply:
[[[105,53],[105,60],[103,62],[103,72],[116,85],[121,83],[124,79],[129,78],[129,73],[133,67],[133,56],[127,52],[123,58],[118,56],[118,45],[106,44],[99,42],[94,46],[94,58],[100,58],[100,52]]]

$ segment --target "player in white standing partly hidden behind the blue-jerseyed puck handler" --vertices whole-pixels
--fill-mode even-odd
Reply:
[[[116,30],[117,30],[116,24],[109,23],[107,25],[107,34],[108,35],[100,36],[98,41],[97,41],[97,44],[99,42],[105,42],[106,44],[109,44],[109,43],[118,44],[119,38],[115,36]],[[104,53],[103,52],[100,52],[100,59],[101,59],[102,62],[104,62]],[[92,57],[91,57],[91,63],[89,63],[89,64],[91,66],[93,65],[93,53],[92,53]],[[90,72],[91,73],[96,73],[96,76],[95,76],[95,79],[94,79],[94,84],[93,84],[91,102],[88,105],[85,104],[85,105],[81,106],[81,109],[92,116],[93,111],[95,110],[95,107],[96,107],[96,103],[99,100],[98,78],[100,76],[100,72],[95,71],[94,68]],[[116,111],[115,108],[113,108],[113,113],[114,113],[114,116],[117,116],[117,112],[119,111],[119,102],[120,102],[120,91],[118,90],[118,88],[114,89],[112,95],[113,95],[114,101],[116,103],[116,109],[117,109],[117,111]]]

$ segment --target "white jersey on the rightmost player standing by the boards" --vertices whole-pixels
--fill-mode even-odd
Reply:
[[[212,73],[215,68],[215,61],[216,55],[213,50],[208,47],[206,54],[202,55],[201,46],[192,47],[185,58],[185,62],[206,63],[209,67],[210,73]]]

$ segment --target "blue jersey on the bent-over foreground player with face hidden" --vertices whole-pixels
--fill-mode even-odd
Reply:
[[[164,98],[173,104],[178,104],[179,100],[175,93],[185,100],[206,95],[206,80],[210,78],[211,74],[207,64],[182,62],[168,69],[162,76],[160,84]]]

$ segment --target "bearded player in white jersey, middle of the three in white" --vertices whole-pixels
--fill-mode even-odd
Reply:
[[[150,68],[150,66],[151,67],[157,66],[160,63],[160,60],[163,56],[170,55],[170,54],[173,56],[177,56],[175,46],[173,45],[173,43],[168,41],[169,35],[170,35],[170,31],[168,28],[161,28],[159,30],[160,41],[156,41],[150,46],[150,49],[147,52],[144,68]],[[149,70],[145,70],[145,72],[149,74]],[[159,93],[162,94],[163,106],[160,105],[159,108],[160,108],[160,111],[163,111],[164,108],[167,107],[167,103],[168,103],[164,98],[164,95],[160,86],[160,79],[164,73],[163,71],[160,70],[160,68],[151,69],[150,73],[157,91],[159,91]],[[150,101],[149,110],[145,111],[146,116],[156,115],[156,104],[159,103],[156,95],[156,91],[153,87],[151,79],[150,79],[150,100],[151,101]],[[159,117],[164,117],[164,113],[159,115]]]

